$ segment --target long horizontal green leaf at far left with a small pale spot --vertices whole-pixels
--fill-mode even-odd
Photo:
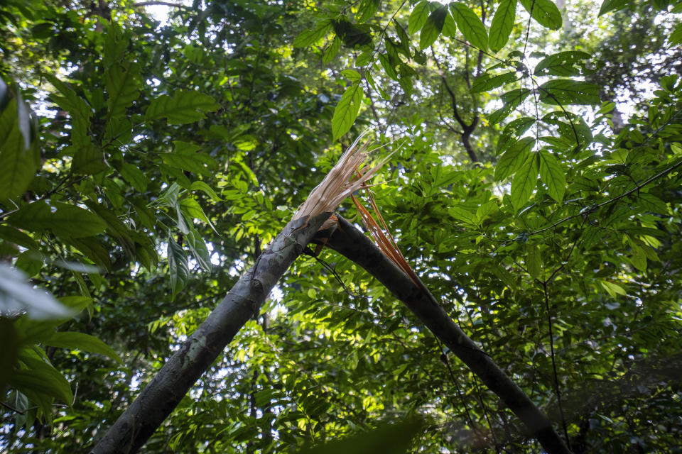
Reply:
[[[80,238],[102,233],[102,218],[78,206],[54,200],[38,200],[24,205],[7,222],[33,232],[52,231],[57,236]]]

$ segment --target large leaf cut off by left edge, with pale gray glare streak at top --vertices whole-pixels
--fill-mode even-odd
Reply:
[[[31,114],[21,99],[11,99],[0,112],[0,201],[23,194],[39,166]]]

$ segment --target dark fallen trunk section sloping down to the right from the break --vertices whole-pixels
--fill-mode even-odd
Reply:
[[[440,341],[448,345],[448,348],[497,394],[511,411],[514,411],[548,454],[570,454],[570,450],[552,427],[550,419],[516,383],[511,381],[492,358],[484,353],[453,319],[450,319],[428,289],[423,284],[420,287],[412,282],[394,262],[381,253],[372,240],[341,216],[337,217],[339,226],[328,240],[327,246],[362,266],[408,306]]]

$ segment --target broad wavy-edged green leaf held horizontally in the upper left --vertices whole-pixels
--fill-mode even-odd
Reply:
[[[168,118],[168,124],[180,125],[202,120],[206,118],[203,112],[215,111],[219,107],[207,94],[178,90],[172,98],[164,94],[151,101],[145,116],[147,120],[165,117]]]

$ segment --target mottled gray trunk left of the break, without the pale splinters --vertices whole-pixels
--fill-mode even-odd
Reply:
[[[320,214],[310,218],[308,223],[307,218],[289,222],[197,331],[161,367],[91,453],[136,453],[237,331],[258,313],[272,287],[329,216],[330,213]]]

